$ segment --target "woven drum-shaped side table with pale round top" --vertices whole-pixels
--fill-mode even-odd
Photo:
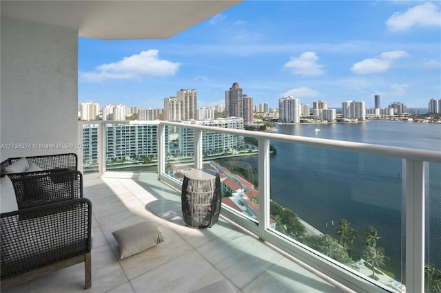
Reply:
[[[185,173],[181,193],[185,224],[193,228],[207,228],[216,224],[221,197],[218,173],[201,169]]]

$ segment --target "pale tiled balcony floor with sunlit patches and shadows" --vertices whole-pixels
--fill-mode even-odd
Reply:
[[[349,291],[225,219],[212,228],[188,228],[180,193],[156,178],[154,173],[85,177],[94,232],[87,292],[192,292],[218,281],[236,292]],[[164,241],[119,260],[112,231],[145,220],[156,223]],[[83,288],[84,265],[79,264],[3,292],[85,292]]]

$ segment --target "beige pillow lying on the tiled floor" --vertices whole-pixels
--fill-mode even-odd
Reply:
[[[122,228],[112,232],[119,243],[120,258],[143,252],[164,241],[164,237],[155,224],[150,221]]]

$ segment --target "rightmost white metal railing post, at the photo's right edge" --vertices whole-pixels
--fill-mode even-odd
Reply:
[[[424,162],[406,160],[406,291],[424,292]]]

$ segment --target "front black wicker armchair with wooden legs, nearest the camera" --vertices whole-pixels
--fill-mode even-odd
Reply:
[[[1,213],[1,290],[81,262],[85,288],[91,287],[92,204],[83,198],[81,173],[7,177],[18,209]]]

